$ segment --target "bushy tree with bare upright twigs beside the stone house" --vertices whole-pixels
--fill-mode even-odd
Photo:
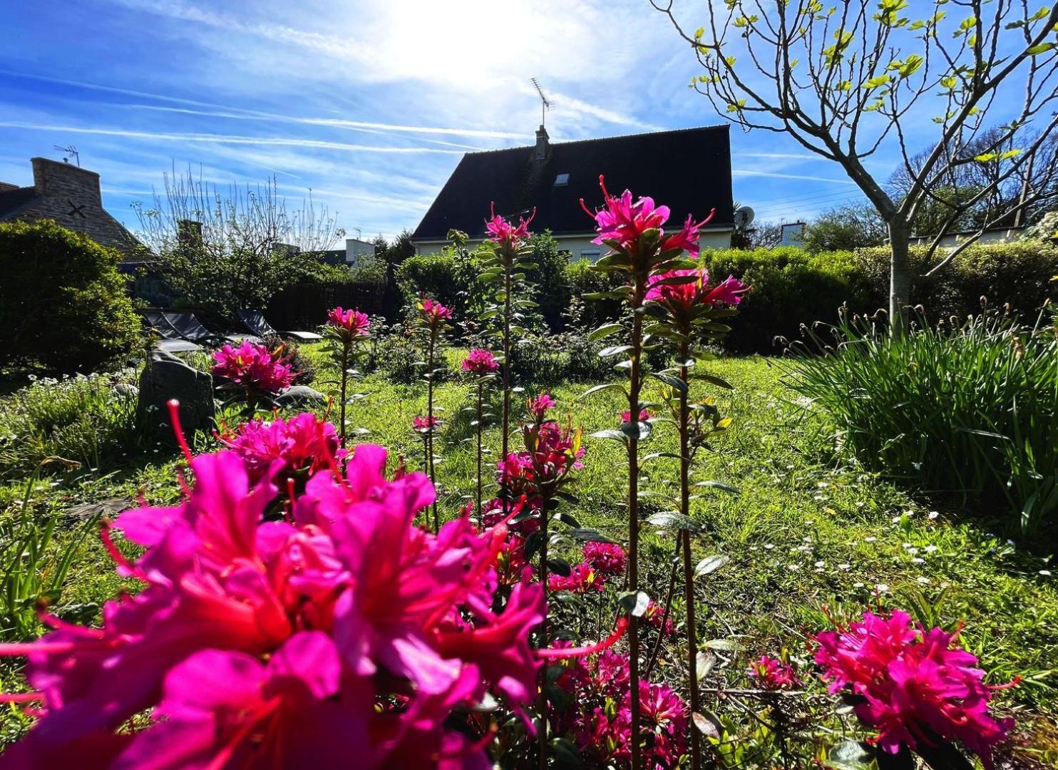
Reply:
[[[225,192],[190,167],[165,175],[164,194],[133,209],[138,235],[171,288],[225,317],[262,308],[285,285],[326,272],[320,253],[344,235],[311,197],[288,212],[274,178]]]

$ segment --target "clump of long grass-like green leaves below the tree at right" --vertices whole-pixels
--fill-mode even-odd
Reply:
[[[1058,534],[1058,327],[989,312],[891,335],[860,318],[802,349],[788,385],[841,454],[926,492],[955,493],[1011,534]],[[817,355],[816,353],[823,353]]]

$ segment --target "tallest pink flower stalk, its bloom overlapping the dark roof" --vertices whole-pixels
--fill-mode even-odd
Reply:
[[[658,272],[689,267],[681,259],[683,250],[698,240],[698,227],[690,217],[682,230],[670,236],[664,235],[661,225],[669,219],[668,206],[655,206],[652,198],[633,201],[632,192],[625,190],[620,197],[609,195],[602,177],[599,186],[603,194],[603,206],[589,210],[581,201],[581,206],[596,221],[598,237],[592,241],[606,245],[609,252],[595,263],[598,271],[618,272],[626,276],[624,286],[614,292],[589,295],[588,298],[621,299],[632,315],[632,330],[627,343],[606,348],[602,355],[624,355],[618,367],[628,372],[630,421],[620,430],[602,430],[594,436],[619,440],[624,443],[628,459],[628,593],[622,606],[628,611],[628,686],[631,697],[633,770],[642,768],[641,718],[639,693],[639,619],[646,611],[650,598],[639,590],[639,442],[650,435],[650,425],[640,421],[642,409],[640,393],[643,385],[642,352],[650,335],[643,331],[643,304],[650,279]],[[693,267],[693,263],[692,265]],[[620,324],[607,324],[596,329],[590,338],[601,340],[623,330]],[[592,390],[606,389],[603,385]],[[620,386],[617,386],[620,387]]]

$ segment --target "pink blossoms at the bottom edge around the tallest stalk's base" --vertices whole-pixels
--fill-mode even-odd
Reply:
[[[626,767],[632,754],[628,658],[612,649],[564,663],[557,684],[570,697],[553,715],[591,766]],[[643,766],[675,768],[687,751],[690,713],[665,684],[639,682]]]

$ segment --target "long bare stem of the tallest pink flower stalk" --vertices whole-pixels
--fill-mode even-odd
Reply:
[[[636,276],[632,301],[632,371],[628,384],[630,422],[637,429],[628,437],[628,590],[639,590],[639,391],[642,385],[641,362],[643,318],[638,312],[646,292],[646,276]],[[639,703],[639,618],[628,612],[628,686],[632,705],[632,770],[641,770]]]

